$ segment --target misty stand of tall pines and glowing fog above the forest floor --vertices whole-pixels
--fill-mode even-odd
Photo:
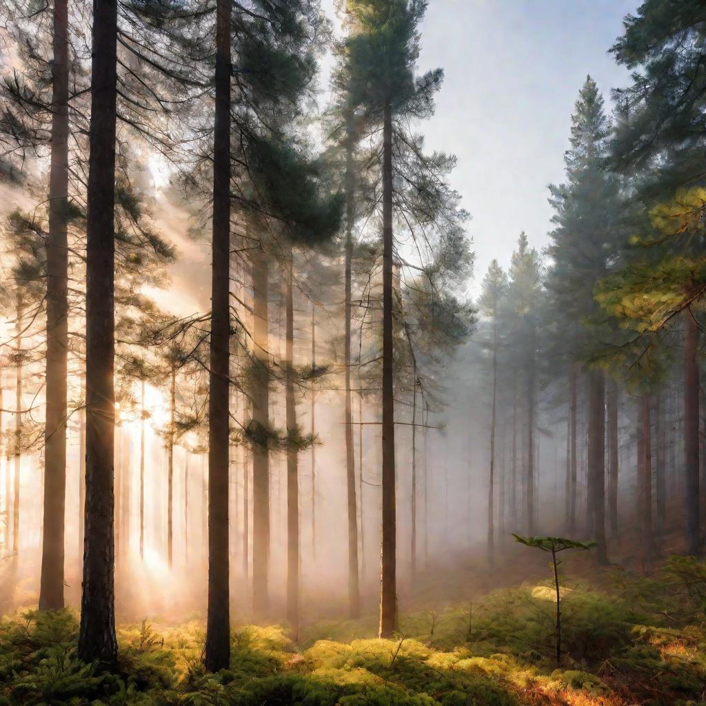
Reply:
[[[80,606],[107,664],[116,619],[205,617],[215,671],[231,618],[389,638],[511,532],[702,551],[702,4],[626,18],[550,245],[486,273],[426,3],[1,7],[1,611]]]

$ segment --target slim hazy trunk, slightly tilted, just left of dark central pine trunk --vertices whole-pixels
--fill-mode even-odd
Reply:
[[[353,414],[351,409],[351,268],[353,260],[354,182],[352,127],[348,118],[346,150],[346,243],[345,243],[345,434],[346,434],[346,489],[348,511],[348,614],[360,617],[360,590],[358,579],[358,510],[355,489],[355,456],[353,450]],[[390,225],[391,228],[391,225]],[[391,234],[390,234],[391,237]],[[391,295],[390,295],[391,297]],[[393,450],[394,457],[394,450]],[[393,469],[394,472],[394,469]]]

